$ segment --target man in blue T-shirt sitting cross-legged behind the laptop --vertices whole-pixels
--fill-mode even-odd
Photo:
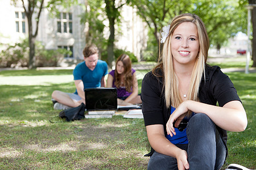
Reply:
[[[75,93],[67,93],[59,90],[52,92],[54,109],[68,109],[85,104],[85,88],[105,87],[105,75],[108,74],[108,65],[98,59],[98,48],[95,45],[85,46],[83,52],[84,61],[73,70],[76,85]]]

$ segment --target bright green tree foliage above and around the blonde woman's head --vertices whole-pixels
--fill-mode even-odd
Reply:
[[[134,0],[131,6],[138,8],[137,14],[150,29],[148,49],[143,56],[146,60],[153,60],[153,56],[158,56],[158,50],[152,46],[158,44],[162,27],[175,15],[187,12],[200,16],[207,27],[210,44],[220,48],[238,31],[246,32],[245,5],[245,0]],[[156,46],[158,48],[159,45]]]

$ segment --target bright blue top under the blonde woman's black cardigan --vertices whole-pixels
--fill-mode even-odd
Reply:
[[[171,107],[171,114],[175,111],[176,108]],[[195,113],[192,113],[192,116]],[[185,120],[189,120],[188,118],[184,118]],[[187,138],[187,128],[185,128],[183,131],[179,131],[179,129],[175,128],[176,135],[166,135],[166,138],[174,145],[176,144],[187,144],[188,138]]]

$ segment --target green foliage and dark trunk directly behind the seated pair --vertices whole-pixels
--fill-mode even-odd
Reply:
[[[81,23],[86,25],[86,43],[96,44],[100,49],[100,58],[108,62],[109,66],[112,65],[114,60],[112,56],[115,55],[115,26],[119,26],[121,7],[126,2],[88,0],[85,2],[86,12],[81,16]],[[108,24],[104,23],[106,20],[108,20]],[[104,38],[105,27],[109,27],[110,36],[108,39]]]

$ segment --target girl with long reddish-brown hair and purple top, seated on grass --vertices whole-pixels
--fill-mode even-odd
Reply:
[[[122,54],[115,62],[115,70],[110,71],[106,87],[117,88],[117,104],[141,104],[138,95],[138,81],[135,70],[131,68],[131,59],[127,54]]]

